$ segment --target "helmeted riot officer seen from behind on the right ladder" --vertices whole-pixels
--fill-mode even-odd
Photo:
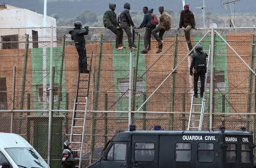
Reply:
[[[203,51],[203,46],[198,44],[195,47],[195,53],[192,55],[192,62],[190,65],[190,75],[194,75],[194,97],[197,98],[197,82],[200,76],[201,86],[200,86],[200,98],[204,96],[204,80],[205,80],[205,73],[207,70],[206,67],[206,57],[208,55]],[[195,72],[192,72],[193,67],[195,68]]]

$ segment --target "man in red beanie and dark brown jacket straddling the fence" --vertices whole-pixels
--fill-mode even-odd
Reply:
[[[185,32],[185,38],[189,47],[189,51],[191,51],[193,49],[191,41],[190,41],[190,30],[196,29],[195,28],[195,16],[194,13],[189,10],[189,5],[186,4],[184,5],[184,10],[182,10],[180,12],[180,24],[179,24],[179,28],[182,28],[182,26],[185,28],[184,32]],[[193,54],[193,52],[191,52],[191,54]]]

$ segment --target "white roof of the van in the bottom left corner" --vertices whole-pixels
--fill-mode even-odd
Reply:
[[[12,133],[0,133],[0,148],[33,148],[20,135]]]

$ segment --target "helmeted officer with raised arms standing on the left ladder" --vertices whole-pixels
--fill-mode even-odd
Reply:
[[[85,48],[85,39],[84,35],[88,35],[89,27],[86,26],[85,30],[81,30],[82,22],[76,21],[74,23],[75,28],[72,31],[69,31],[71,34],[71,39],[74,40],[76,51],[79,55],[78,59],[78,68],[79,73],[89,73],[90,70],[87,70],[87,58],[86,58],[86,48]]]

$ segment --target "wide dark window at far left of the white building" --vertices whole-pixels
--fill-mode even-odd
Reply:
[[[18,49],[18,35],[2,36],[2,49]]]

